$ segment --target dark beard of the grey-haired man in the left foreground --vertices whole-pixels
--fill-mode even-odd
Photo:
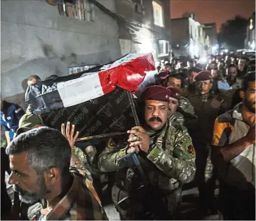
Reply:
[[[14,191],[17,191],[19,193],[19,200],[26,204],[31,204],[33,202],[37,202],[38,200],[42,199],[47,195],[47,193],[50,193],[49,189],[47,188],[45,184],[45,177],[44,175],[38,177],[38,184],[40,187],[39,193],[29,193],[28,191],[24,191],[22,188],[20,188],[17,185],[13,186]]]

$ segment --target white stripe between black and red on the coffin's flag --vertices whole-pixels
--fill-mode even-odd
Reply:
[[[58,82],[57,88],[64,107],[77,105],[104,95],[97,72],[74,80]]]

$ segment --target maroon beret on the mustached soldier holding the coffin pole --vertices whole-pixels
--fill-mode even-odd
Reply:
[[[158,85],[147,87],[141,95],[141,100],[160,100],[169,102],[170,90]]]

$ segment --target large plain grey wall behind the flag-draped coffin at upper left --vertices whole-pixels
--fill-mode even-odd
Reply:
[[[99,0],[115,10],[115,0]],[[1,95],[22,99],[26,78],[68,74],[67,67],[120,57],[118,24],[94,6],[94,21],[59,15],[45,0],[1,1]]]

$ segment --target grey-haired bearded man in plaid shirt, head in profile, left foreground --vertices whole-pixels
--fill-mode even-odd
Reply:
[[[90,173],[74,166],[74,125],[63,134],[38,127],[17,136],[6,152],[12,171],[8,183],[36,220],[107,220]]]

